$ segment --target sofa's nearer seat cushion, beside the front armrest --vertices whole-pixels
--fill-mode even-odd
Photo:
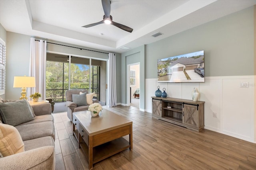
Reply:
[[[54,145],[54,140],[50,136],[24,141],[25,151],[46,146],[54,147]]]

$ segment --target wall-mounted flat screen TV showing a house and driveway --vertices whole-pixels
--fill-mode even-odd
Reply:
[[[204,82],[204,51],[157,60],[158,82]]]

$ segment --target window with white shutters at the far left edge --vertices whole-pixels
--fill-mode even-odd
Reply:
[[[0,95],[5,93],[5,42],[0,39]]]

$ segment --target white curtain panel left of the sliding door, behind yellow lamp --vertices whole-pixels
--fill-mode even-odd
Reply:
[[[40,100],[46,99],[46,41],[36,41],[30,38],[30,64],[28,76],[36,78],[36,87],[28,89],[28,98],[30,94],[39,92],[42,94]]]

